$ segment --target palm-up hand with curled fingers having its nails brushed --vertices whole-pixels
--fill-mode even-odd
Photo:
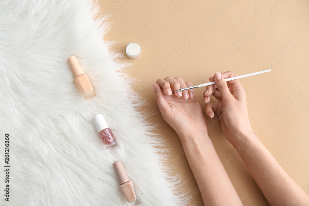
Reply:
[[[166,77],[158,79],[152,86],[163,119],[180,138],[202,132],[207,134],[205,116],[193,89],[177,92],[193,86],[191,82],[184,82],[180,77]]]

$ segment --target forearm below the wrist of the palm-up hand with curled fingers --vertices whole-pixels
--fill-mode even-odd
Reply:
[[[180,135],[180,140],[204,204],[242,205],[208,135]]]

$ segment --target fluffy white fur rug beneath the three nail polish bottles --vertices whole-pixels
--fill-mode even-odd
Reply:
[[[125,205],[112,163],[121,160],[141,205],[186,205],[160,156],[162,140],[134,108],[128,66],[102,40],[87,0],[0,2],[1,205]],[[97,95],[83,100],[66,59],[74,55]],[[91,118],[103,113],[119,145],[106,150]],[[4,163],[8,133],[9,164]],[[160,148],[160,147],[158,147]],[[4,165],[10,165],[9,202]]]

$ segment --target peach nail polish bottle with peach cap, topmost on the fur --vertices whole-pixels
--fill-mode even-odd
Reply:
[[[75,77],[75,84],[84,99],[89,99],[96,95],[95,87],[93,86],[88,74],[85,74],[82,67],[79,65],[76,57],[68,58],[68,63]]]

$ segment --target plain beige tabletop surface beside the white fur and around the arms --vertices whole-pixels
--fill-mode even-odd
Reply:
[[[180,76],[193,84],[205,83],[217,71],[231,70],[241,75],[264,70],[265,64],[269,64],[272,72],[240,80],[247,92],[252,128],[273,156],[278,161],[281,158],[280,165],[286,172],[309,194],[309,86],[304,81],[309,76],[307,0],[280,0],[277,4],[266,0],[101,0],[99,5],[102,15],[112,14],[112,29],[105,36],[105,40],[117,42],[112,49],[124,53],[126,45],[134,40],[142,47],[137,59],[124,58],[133,62],[128,72],[140,80],[134,82],[135,90],[151,105],[146,109],[156,113],[150,122],[162,125],[158,132],[167,140],[166,147],[172,148],[168,155],[170,164],[176,168],[173,172],[188,180],[182,187],[192,195],[191,204],[203,205],[201,195],[182,155],[179,138],[159,114],[151,84],[167,76]],[[213,19],[209,19],[211,15]],[[252,27],[256,30],[250,34]],[[188,40],[186,45],[188,37],[192,41]],[[179,48],[181,44],[186,48]],[[235,49],[236,44],[237,50],[223,61],[222,56],[233,46]],[[285,47],[286,52],[282,50]],[[173,53],[177,56],[169,62],[168,57]],[[163,62],[167,66],[160,70]],[[199,88],[195,93],[205,110],[203,91],[204,88]],[[287,100],[289,97],[291,100]],[[225,159],[235,150],[225,139],[219,123],[208,117],[206,122],[209,136],[240,198],[245,197],[243,192],[250,194],[243,204],[269,205],[239,156],[226,164]],[[294,143],[299,145],[292,149]]]

